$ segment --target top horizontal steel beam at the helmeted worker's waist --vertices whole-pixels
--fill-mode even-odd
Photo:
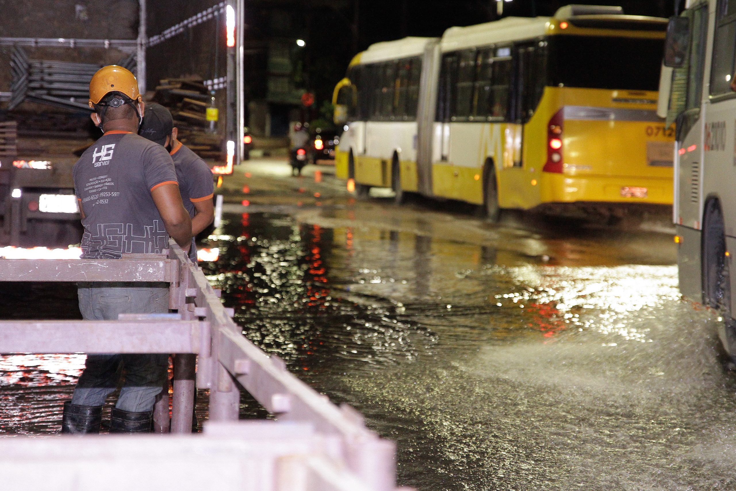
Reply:
[[[0,281],[175,283],[178,266],[171,259],[0,259]]]

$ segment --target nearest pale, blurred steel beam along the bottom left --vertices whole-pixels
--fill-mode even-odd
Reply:
[[[272,421],[207,423],[177,438],[15,437],[0,439],[0,473],[3,489],[24,491],[376,491],[331,448],[308,424]]]

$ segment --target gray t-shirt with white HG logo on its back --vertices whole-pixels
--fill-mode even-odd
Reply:
[[[151,191],[169,183],[177,184],[177,173],[163,146],[128,132],[102,135],[74,164],[74,190],[85,213],[82,258],[168,248]]]

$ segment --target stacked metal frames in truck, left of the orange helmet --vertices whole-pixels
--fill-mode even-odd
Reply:
[[[135,70],[135,56],[130,55],[118,65]],[[20,46],[15,46],[10,58],[13,82],[8,109],[30,101],[90,110],[87,104],[89,83],[101,67],[93,63],[31,60]]]

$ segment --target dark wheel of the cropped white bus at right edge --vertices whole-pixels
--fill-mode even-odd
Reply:
[[[726,229],[718,199],[710,199],[703,213],[703,303],[730,318],[731,280],[726,261]]]

